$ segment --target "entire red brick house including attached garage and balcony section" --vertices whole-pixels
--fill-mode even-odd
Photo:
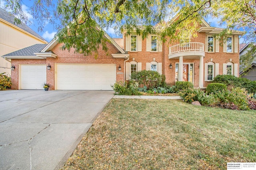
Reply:
[[[52,90],[112,90],[111,84],[130,80],[131,73],[140,70],[164,74],[170,85],[177,80],[190,81],[202,88],[218,74],[238,76],[239,73],[239,36],[244,32],[233,31],[222,46],[214,38],[221,31],[202,20],[198,37],[188,37],[182,44],[163,43],[158,35],[142,39],[124,31],[123,41],[118,42],[125,50],[105,33],[111,42],[107,44],[111,55],[99,49],[97,59],[94,54],[62,51],[56,39],[45,47],[35,45],[2,57],[12,59],[15,66],[13,89],[42,89],[47,81]],[[26,52],[30,50],[32,53]]]

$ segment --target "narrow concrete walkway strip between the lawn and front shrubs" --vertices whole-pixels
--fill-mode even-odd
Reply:
[[[121,99],[174,99],[181,100],[180,96],[123,96],[123,95],[115,95],[113,98]]]

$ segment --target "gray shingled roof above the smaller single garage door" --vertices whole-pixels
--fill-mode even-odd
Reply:
[[[18,51],[3,55],[4,56],[36,56],[34,53],[39,53],[47,44],[35,44]]]

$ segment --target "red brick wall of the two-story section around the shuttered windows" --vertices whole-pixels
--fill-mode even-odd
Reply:
[[[125,34],[124,34],[125,35]],[[205,44],[205,33],[198,33],[198,36],[192,38],[190,42],[199,42]],[[126,36],[124,36],[124,42],[126,42]],[[169,85],[175,84],[175,63],[179,63],[179,59],[168,59],[169,47],[179,44],[179,42],[167,41],[162,43],[162,52],[147,52],[146,51],[146,38],[142,39],[142,51],[141,52],[128,52],[130,54],[130,59],[128,62],[134,61],[142,63],[142,70],[146,69],[146,63],[153,61],[153,58],[156,58],[158,63],[162,63],[162,74],[166,76],[166,83]],[[239,39],[238,39],[239,44]],[[126,49],[126,43],[124,43],[124,49]],[[224,53],[223,46],[220,42],[218,53],[208,53],[205,52],[204,63],[211,61],[214,63],[219,63],[219,74],[223,74],[223,63],[230,62],[239,64],[239,53]],[[185,58],[185,57],[184,57]],[[169,68],[170,63],[172,63],[172,68]],[[183,63],[194,63],[194,86],[199,86],[199,57],[198,59],[183,59]],[[204,66],[204,65],[203,65]],[[204,68],[205,69],[205,68]],[[238,68],[239,69],[239,68]],[[238,70],[239,72],[239,70]],[[204,73],[203,73],[204,74]],[[203,75],[204,77],[205,75]],[[204,86],[206,87],[208,82],[204,81]]]

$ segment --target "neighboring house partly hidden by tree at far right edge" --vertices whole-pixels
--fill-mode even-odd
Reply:
[[[247,43],[247,44],[243,45],[243,47],[239,51],[240,56],[247,53],[247,51],[249,50],[249,47],[248,47],[249,44],[250,43]],[[252,62],[250,70],[248,70],[245,74],[242,70],[242,66],[240,66],[240,70],[241,70],[239,72],[240,77],[247,78],[247,79],[252,80],[252,81],[256,81],[256,61]]]

